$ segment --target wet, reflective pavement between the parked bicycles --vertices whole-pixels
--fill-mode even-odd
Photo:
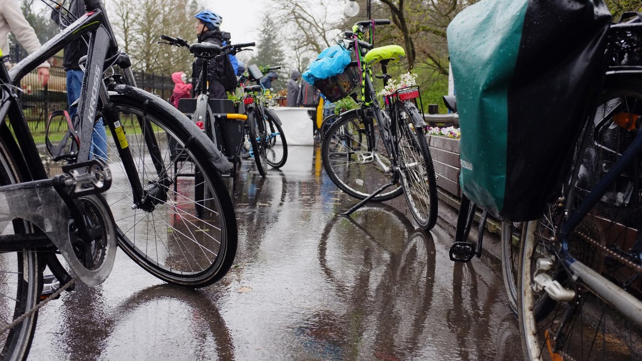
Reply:
[[[453,220],[419,231],[403,197],[337,216],[355,201],[327,177],[319,148],[291,146],[265,178],[249,166],[237,177],[239,248],[227,276],[200,290],[164,285],[119,251],[105,283],[41,310],[30,359],[521,355],[498,260],[451,262]]]

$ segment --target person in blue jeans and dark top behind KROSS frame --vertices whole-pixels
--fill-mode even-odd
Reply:
[[[76,21],[85,13],[84,0],[72,0],[69,4],[69,13],[60,13],[60,6],[51,11],[51,19],[62,28]],[[82,87],[82,78],[85,76],[78,60],[87,55],[87,44],[82,39],[75,40],[65,46],[64,55],[62,56],[62,66],[67,72],[67,101],[69,102],[69,116],[71,119],[76,115],[77,107],[71,107],[74,101],[80,98],[80,87]],[[94,126],[94,132],[91,135],[90,154],[94,157],[107,159],[107,132],[102,120]]]

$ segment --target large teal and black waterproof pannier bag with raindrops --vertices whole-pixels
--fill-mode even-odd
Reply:
[[[492,215],[539,218],[600,82],[602,0],[482,0],[447,28],[460,117],[460,185]]]

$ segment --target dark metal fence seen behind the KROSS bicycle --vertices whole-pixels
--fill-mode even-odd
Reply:
[[[27,53],[20,46],[10,48],[12,64],[20,62]],[[49,61],[49,82],[42,86],[38,82],[37,71],[32,71],[20,82],[22,109],[29,123],[31,132],[44,133],[49,114],[58,109],[69,109],[67,104],[67,73],[62,67],[62,57],[53,57]],[[10,64],[10,66],[12,66]],[[152,94],[168,100],[174,89],[171,76],[147,74],[143,71],[134,71],[136,84]],[[52,122],[50,131],[58,132],[67,130],[67,124],[60,119]]]

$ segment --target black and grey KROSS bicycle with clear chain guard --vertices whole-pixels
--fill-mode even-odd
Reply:
[[[218,173],[230,167],[227,159],[178,110],[133,86],[130,60],[119,51],[102,1],[85,4],[87,13],[38,51],[10,71],[0,66],[0,191],[3,199],[12,200],[0,203],[0,251],[8,272],[0,281],[1,312],[13,320],[0,330],[3,358],[26,358],[38,309],[73,286],[57,251],[89,285],[107,277],[117,243],[143,269],[186,287],[216,282],[236,254],[234,208]],[[65,175],[47,179],[17,84],[83,35],[91,37],[78,117],[67,119],[70,130],[58,146],[47,139],[54,159],[69,164],[63,167]],[[103,76],[112,66],[123,69],[124,76]],[[92,128],[100,118],[112,134],[107,164],[89,159]],[[171,172],[176,158],[169,153],[170,140],[191,160],[194,180],[180,181]],[[177,182],[178,192],[170,191]],[[63,286],[39,303],[45,267]]]

